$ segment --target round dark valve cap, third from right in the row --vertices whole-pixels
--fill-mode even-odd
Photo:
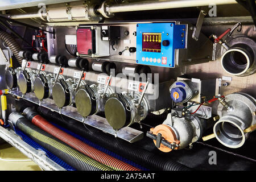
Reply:
[[[68,87],[57,81],[52,87],[52,98],[59,108],[69,105],[71,94]]]

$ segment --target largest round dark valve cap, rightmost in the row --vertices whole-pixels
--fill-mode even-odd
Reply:
[[[126,109],[125,104],[117,97],[109,98],[105,104],[105,116],[113,129],[121,129],[129,125],[131,113]]]

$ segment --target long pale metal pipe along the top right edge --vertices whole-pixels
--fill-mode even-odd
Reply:
[[[156,9],[173,9],[180,7],[209,6],[214,3],[216,5],[226,5],[237,3],[235,0],[183,0],[183,1],[142,1],[136,3],[110,5],[106,8],[108,13],[119,13],[128,11],[144,11]]]

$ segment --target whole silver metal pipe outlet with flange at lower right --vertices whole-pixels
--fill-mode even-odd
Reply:
[[[226,109],[221,103],[218,105],[220,120],[215,123],[213,133],[224,146],[239,148],[249,136],[244,130],[256,123],[253,114],[256,110],[256,100],[249,94],[238,92],[225,96],[225,102],[232,109]]]

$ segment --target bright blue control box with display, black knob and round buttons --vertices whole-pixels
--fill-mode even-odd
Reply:
[[[174,68],[175,49],[185,48],[185,40],[185,24],[139,23],[136,39],[137,63]]]

